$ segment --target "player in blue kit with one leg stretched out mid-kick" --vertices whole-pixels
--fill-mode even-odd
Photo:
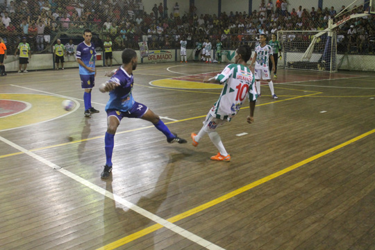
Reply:
[[[106,149],[106,165],[101,173],[101,178],[108,178],[112,172],[112,153],[114,147],[114,138],[117,127],[124,117],[140,118],[152,122],[153,125],[163,132],[167,137],[167,142],[186,143],[186,140],[179,138],[171,133],[158,115],[153,113],[147,106],[134,100],[133,90],[133,70],[137,67],[138,57],[133,49],[122,51],[122,67],[116,72],[111,72],[110,80],[102,83],[99,90],[109,92],[110,99],[106,105],[107,112],[107,132],[104,139]]]

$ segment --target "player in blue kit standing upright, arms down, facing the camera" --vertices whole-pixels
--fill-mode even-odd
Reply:
[[[97,69],[95,68],[95,57],[97,52],[95,46],[91,42],[92,33],[89,29],[83,32],[85,41],[77,46],[76,58],[79,64],[79,76],[81,76],[81,86],[85,90],[83,94],[83,102],[85,103],[85,117],[90,117],[93,113],[99,113],[99,110],[91,106],[91,91],[95,85],[95,76]]]

